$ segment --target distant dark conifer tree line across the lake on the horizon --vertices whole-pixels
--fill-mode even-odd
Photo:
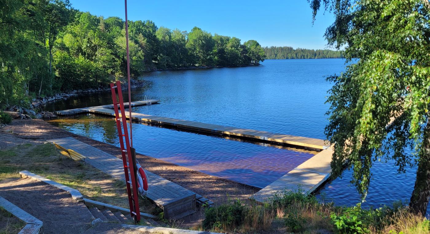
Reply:
[[[291,46],[263,47],[267,59],[343,58],[342,51],[329,49],[293,49]]]

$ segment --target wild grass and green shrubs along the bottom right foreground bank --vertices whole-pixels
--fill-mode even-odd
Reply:
[[[229,201],[205,211],[202,229],[233,233],[428,234],[430,222],[408,207],[337,207],[298,191],[275,194],[265,204]]]

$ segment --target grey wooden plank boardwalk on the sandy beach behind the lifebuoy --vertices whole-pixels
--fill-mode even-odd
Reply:
[[[73,137],[52,139],[48,140],[48,142],[55,142],[66,149],[73,149],[86,156],[86,162],[95,168],[118,179],[125,180],[123,161],[114,155],[80,142]],[[157,176],[150,171],[145,170],[145,172],[147,173],[149,182],[147,198],[154,201],[155,204],[164,210],[166,219],[180,219],[195,212],[197,202],[196,193],[164,179],[161,176]],[[206,200],[207,204],[213,204],[200,195],[199,199],[200,203]]]

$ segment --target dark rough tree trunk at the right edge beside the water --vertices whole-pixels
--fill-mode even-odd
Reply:
[[[424,142],[419,152],[417,179],[409,207],[416,214],[425,216],[430,200],[430,116],[424,130]]]

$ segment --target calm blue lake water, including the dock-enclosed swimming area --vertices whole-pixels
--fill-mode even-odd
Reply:
[[[211,124],[273,131],[325,139],[324,104],[331,84],[325,76],[344,70],[343,59],[267,60],[258,67],[170,70],[145,73],[143,88],[132,90],[132,100],[144,95],[160,104],[132,109],[150,115]],[[124,93],[125,101],[126,93]],[[110,92],[61,100],[46,109],[61,110],[111,104]],[[119,145],[115,122],[100,115],[80,115],[52,120],[68,131]],[[264,187],[316,152],[219,135],[133,124],[137,152],[214,176]],[[392,162],[375,163],[369,195],[363,206],[391,205],[410,198],[415,168],[397,175]],[[326,183],[319,197],[338,205],[360,201],[351,172]]]

